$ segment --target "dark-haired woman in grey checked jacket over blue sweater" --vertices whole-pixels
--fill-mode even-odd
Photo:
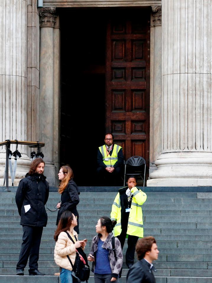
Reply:
[[[116,281],[122,268],[123,255],[122,247],[118,238],[115,238],[114,255],[112,247],[112,230],[116,225],[116,221],[109,217],[101,217],[96,225],[98,233],[92,240],[89,261],[93,261],[92,272],[94,273],[95,283],[109,283]],[[118,282],[118,280],[116,281]]]

